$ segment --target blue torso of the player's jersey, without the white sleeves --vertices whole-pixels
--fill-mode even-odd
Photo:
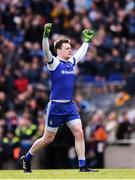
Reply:
[[[52,82],[50,100],[72,100],[75,81],[75,59],[71,61],[59,60],[55,70],[50,70]]]

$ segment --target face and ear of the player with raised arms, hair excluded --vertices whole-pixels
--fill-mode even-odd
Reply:
[[[60,58],[68,60],[72,56],[72,48],[69,43],[63,43],[61,49],[58,49],[57,54]]]

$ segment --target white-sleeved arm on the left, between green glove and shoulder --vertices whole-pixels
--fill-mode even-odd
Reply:
[[[42,48],[43,48],[43,53],[44,53],[44,56],[46,58],[46,61],[51,62],[52,61],[52,53],[51,53],[51,51],[49,49],[48,38],[46,38],[46,37],[43,37]]]

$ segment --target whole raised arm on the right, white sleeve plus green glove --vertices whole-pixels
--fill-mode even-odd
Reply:
[[[82,31],[82,35],[83,35],[84,42],[82,46],[78,49],[78,51],[75,53],[75,55],[73,56],[76,60],[76,63],[85,56],[88,50],[89,43],[92,41],[92,39],[95,36],[95,32],[92,30],[85,29]]]

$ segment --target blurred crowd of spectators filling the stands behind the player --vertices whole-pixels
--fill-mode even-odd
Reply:
[[[118,105],[121,96],[129,99],[135,94],[133,0],[0,0],[0,168],[8,159],[17,162],[43,133],[51,86],[42,52],[43,26],[47,22],[53,23],[49,41],[54,55],[53,42],[59,37],[69,37],[75,53],[82,44],[82,30],[96,31],[87,55],[76,68],[76,82],[102,87],[124,82]],[[119,118],[117,112],[105,114],[102,109],[88,116],[89,100],[81,94],[75,98],[82,120],[87,115],[84,132],[88,163],[102,168],[105,142],[130,138],[135,119],[130,120],[128,111]],[[63,148],[61,163],[57,164],[56,159],[51,166],[50,153],[45,159],[48,168],[61,168],[63,162],[63,167],[75,165],[73,137],[65,127],[61,129],[45,152],[53,149],[53,155],[60,157],[59,148]]]

